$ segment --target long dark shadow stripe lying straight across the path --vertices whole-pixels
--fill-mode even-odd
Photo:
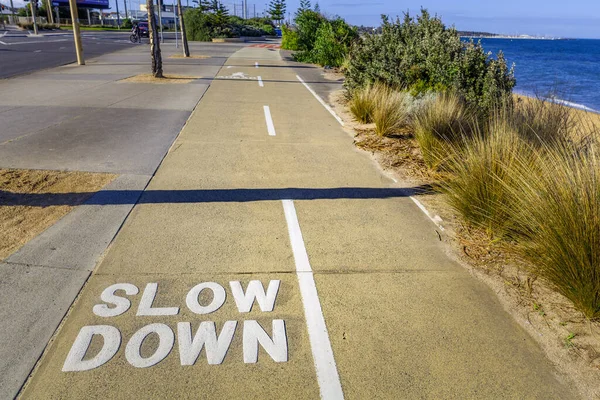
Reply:
[[[13,193],[0,191],[0,206],[245,203],[274,200],[389,199],[431,192],[429,186],[413,188],[281,188],[199,190],[104,190],[97,193]],[[77,201],[79,200],[79,202]]]

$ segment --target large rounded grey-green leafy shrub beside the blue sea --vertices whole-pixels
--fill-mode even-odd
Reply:
[[[454,28],[426,10],[417,18],[406,14],[402,21],[383,17],[381,34],[367,34],[352,48],[347,87],[373,82],[415,95],[452,89],[485,112],[506,101],[515,85],[501,53],[492,59],[480,43],[461,42]]]

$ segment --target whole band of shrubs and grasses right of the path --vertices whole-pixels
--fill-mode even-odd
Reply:
[[[298,60],[343,66],[358,123],[387,143],[414,142],[434,190],[469,232],[600,320],[598,127],[561,104],[515,96],[502,53],[461,40],[426,10],[383,18],[379,31],[347,35],[344,46],[338,37],[330,63],[314,57],[326,23],[299,12],[284,44]]]

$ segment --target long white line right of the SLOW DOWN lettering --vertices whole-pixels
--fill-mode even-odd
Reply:
[[[308,328],[308,339],[312,350],[315,370],[317,372],[317,381],[321,391],[321,399],[338,400],[344,398],[342,384],[338,375],[333,350],[329,342],[329,333],[325,325],[321,302],[317,293],[317,286],[313,276],[308,253],[304,246],[302,231],[298,223],[296,208],[293,200],[282,200],[285,220],[288,225],[290,243],[296,262],[296,275],[298,275],[298,284],[300,285],[300,295],[302,296],[302,305],[304,306],[304,315],[306,317],[306,327]]]

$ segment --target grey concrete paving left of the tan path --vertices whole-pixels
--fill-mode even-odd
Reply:
[[[85,66],[0,79],[0,168],[117,175],[0,260],[0,398],[18,393],[211,78],[239,48],[195,43],[192,52],[209,58],[182,60],[165,45],[166,73],[202,77],[186,85],[123,81],[148,72],[148,47],[131,43]],[[100,204],[112,197],[119,204]],[[23,205],[32,205],[27,196]]]

